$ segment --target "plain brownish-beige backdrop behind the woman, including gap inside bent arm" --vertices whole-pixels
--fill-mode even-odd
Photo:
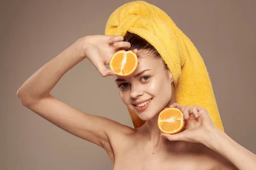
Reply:
[[[42,65],[89,34],[104,34],[110,14],[128,0],[3,0],[0,5],[0,169],[110,170],[101,147],[23,107],[17,89]],[[148,0],[194,42],[212,80],[225,132],[256,153],[256,1]],[[52,90],[81,111],[132,127],[112,77],[88,60]],[[86,122],[85,122],[86,123]]]

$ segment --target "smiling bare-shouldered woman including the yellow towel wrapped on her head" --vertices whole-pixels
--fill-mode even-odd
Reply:
[[[114,170],[255,169],[256,155],[223,131],[200,54],[162,10],[144,1],[127,3],[113,12],[106,34],[82,37],[42,66],[17,91],[22,104],[104,148]],[[140,61],[129,77],[105,67],[122,49],[133,51]],[[83,59],[102,77],[114,76],[135,128],[84,113],[50,94]],[[173,135],[157,125],[159,113],[169,107],[179,109],[185,120],[183,130]]]

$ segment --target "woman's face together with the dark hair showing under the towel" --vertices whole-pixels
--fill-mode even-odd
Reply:
[[[135,50],[137,52],[140,67],[131,77],[126,79],[115,76],[115,82],[119,87],[121,99],[129,111],[136,113],[140,119],[145,121],[151,119],[152,115],[146,114],[147,118],[141,117],[142,114],[137,114],[138,111],[141,112],[150,108],[148,109],[149,112],[160,113],[163,107],[167,105],[166,101],[175,102],[173,99],[170,100],[171,96],[174,98],[174,93],[172,93],[174,91],[172,74],[153,45],[142,37],[127,32],[123,41],[131,44],[131,47],[126,51]],[[133,87],[133,91],[131,91],[131,87]],[[135,88],[138,88],[139,91],[136,91]],[[150,93],[141,94],[145,92],[145,89]],[[152,100],[155,97],[154,94],[157,95],[155,102]],[[156,110],[157,107],[154,105],[158,105],[160,108]]]

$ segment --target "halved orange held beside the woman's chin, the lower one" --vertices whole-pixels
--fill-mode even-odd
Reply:
[[[159,113],[157,125],[164,133],[178,133],[185,125],[183,113],[178,108],[166,108]]]

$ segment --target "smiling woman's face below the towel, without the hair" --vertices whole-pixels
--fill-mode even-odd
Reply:
[[[161,59],[140,54],[140,63],[129,77],[115,76],[119,94],[125,105],[140,119],[158,115],[172,97],[172,74]]]

